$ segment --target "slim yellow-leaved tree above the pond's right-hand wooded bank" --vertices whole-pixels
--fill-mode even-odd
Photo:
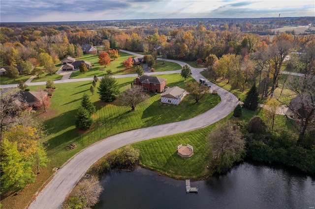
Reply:
[[[270,124],[271,130],[274,129],[275,121],[277,119],[277,112],[278,108],[280,107],[281,103],[275,99],[270,98],[267,102],[265,107],[263,108],[262,112],[265,118],[266,124]]]

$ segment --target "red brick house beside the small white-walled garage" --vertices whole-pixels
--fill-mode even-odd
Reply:
[[[155,76],[142,75],[133,80],[134,85],[142,86],[143,91],[161,93],[166,87],[166,79]]]

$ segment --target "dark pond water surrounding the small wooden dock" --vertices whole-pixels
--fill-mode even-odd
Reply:
[[[226,175],[191,181],[198,193],[186,193],[185,181],[137,168],[113,171],[93,209],[314,209],[315,178],[281,168],[244,162]]]

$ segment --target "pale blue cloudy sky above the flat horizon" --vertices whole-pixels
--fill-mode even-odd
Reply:
[[[0,22],[315,16],[315,0],[0,0]]]

